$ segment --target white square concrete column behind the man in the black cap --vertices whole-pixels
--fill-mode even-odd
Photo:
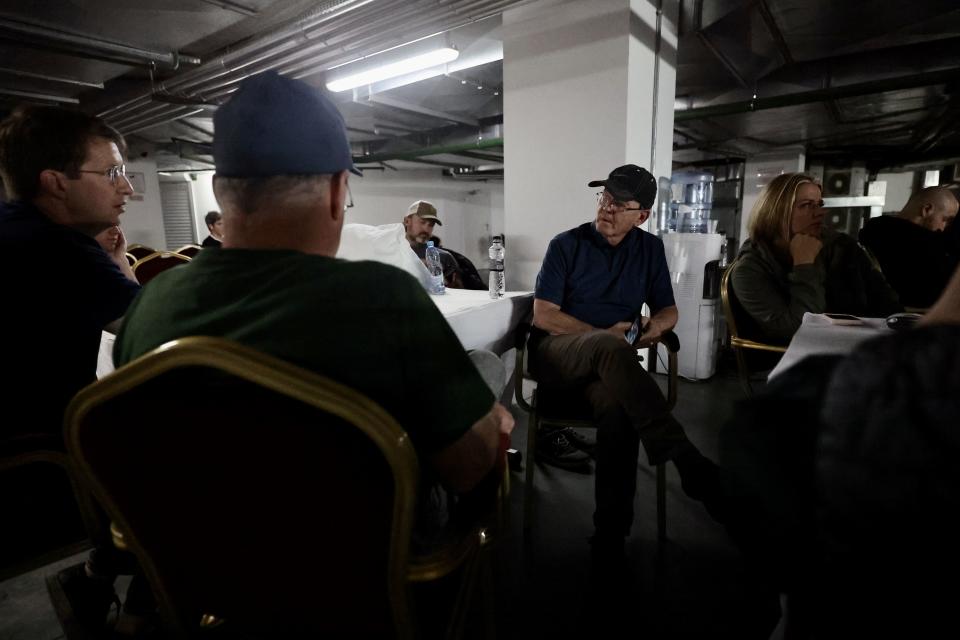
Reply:
[[[669,177],[678,14],[678,0],[541,0],[504,14],[511,289],[532,289],[550,239],[596,215],[587,182],[627,163]]]

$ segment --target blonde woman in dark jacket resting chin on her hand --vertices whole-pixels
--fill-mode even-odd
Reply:
[[[803,314],[886,316],[902,310],[856,240],[823,229],[823,199],[812,176],[786,173],[770,181],[750,214],[750,239],[731,275],[752,321],[746,333],[785,344]],[[750,324],[750,323],[747,323]]]

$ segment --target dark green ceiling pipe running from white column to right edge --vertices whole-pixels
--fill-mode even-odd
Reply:
[[[899,91],[902,89],[915,89],[917,87],[943,84],[945,82],[951,82],[958,79],[960,79],[960,68],[947,69],[944,71],[932,71],[929,73],[917,73],[897,78],[886,78],[882,80],[858,82],[838,87],[828,87],[826,89],[814,89],[813,91],[801,91],[799,93],[770,96],[768,98],[757,98],[756,100],[743,100],[740,102],[729,102],[727,104],[711,105],[707,107],[680,109],[674,111],[673,119],[675,122],[702,120],[703,118],[728,116],[738,113],[751,113],[753,111],[764,111],[766,109],[780,109],[783,107],[793,107],[801,104],[812,104],[815,102],[823,102],[824,100],[867,96],[875,93]]]

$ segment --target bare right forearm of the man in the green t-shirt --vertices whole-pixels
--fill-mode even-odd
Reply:
[[[497,462],[501,434],[513,430],[513,416],[499,402],[453,444],[431,457],[440,480],[457,493],[466,493]]]

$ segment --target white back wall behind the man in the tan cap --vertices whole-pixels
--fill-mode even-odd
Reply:
[[[193,182],[194,217],[199,238],[207,236],[203,216],[219,210],[213,197],[212,173],[200,173]],[[477,266],[486,267],[490,236],[503,233],[503,183],[445,178],[439,169],[372,171],[350,176],[354,207],[347,222],[381,225],[402,222],[415,200],[429,200],[443,222],[434,229],[443,246],[464,254]],[[507,239],[509,246],[510,239]]]

